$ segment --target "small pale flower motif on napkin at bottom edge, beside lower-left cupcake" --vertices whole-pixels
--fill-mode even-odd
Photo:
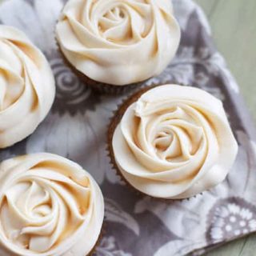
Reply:
[[[118,250],[115,238],[105,237],[102,238],[99,246],[96,248],[95,256],[132,256],[132,254],[125,253],[122,250]]]

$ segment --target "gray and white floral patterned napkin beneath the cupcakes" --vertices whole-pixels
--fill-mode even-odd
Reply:
[[[63,0],[9,0],[0,5],[0,22],[16,26],[50,61],[57,82],[53,109],[25,141],[0,150],[0,159],[46,151],[81,164],[96,178],[106,201],[106,234],[98,256],[202,254],[256,230],[256,140],[239,88],[216,51],[210,26],[191,0],[174,0],[182,27],[177,57],[157,78],[196,85],[224,102],[239,143],[228,178],[190,200],[159,202],[138,196],[114,174],[106,154],[106,127],[122,97],[96,94],[64,65],[54,42],[54,25]]]

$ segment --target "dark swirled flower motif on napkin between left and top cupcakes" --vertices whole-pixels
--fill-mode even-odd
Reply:
[[[86,86],[68,66],[62,58],[57,57],[50,60],[50,65],[56,80],[56,99],[53,111],[59,114],[66,112],[74,115],[86,110],[94,110],[99,102],[100,96]]]

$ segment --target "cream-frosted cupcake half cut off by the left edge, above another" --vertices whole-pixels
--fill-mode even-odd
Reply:
[[[26,35],[0,25],[0,148],[34,132],[54,102],[54,75]]]

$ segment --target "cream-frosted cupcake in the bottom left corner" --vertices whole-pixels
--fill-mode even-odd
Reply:
[[[102,230],[104,202],[94,178],[54,154],[0,165],[0,254],[86,256]]]

